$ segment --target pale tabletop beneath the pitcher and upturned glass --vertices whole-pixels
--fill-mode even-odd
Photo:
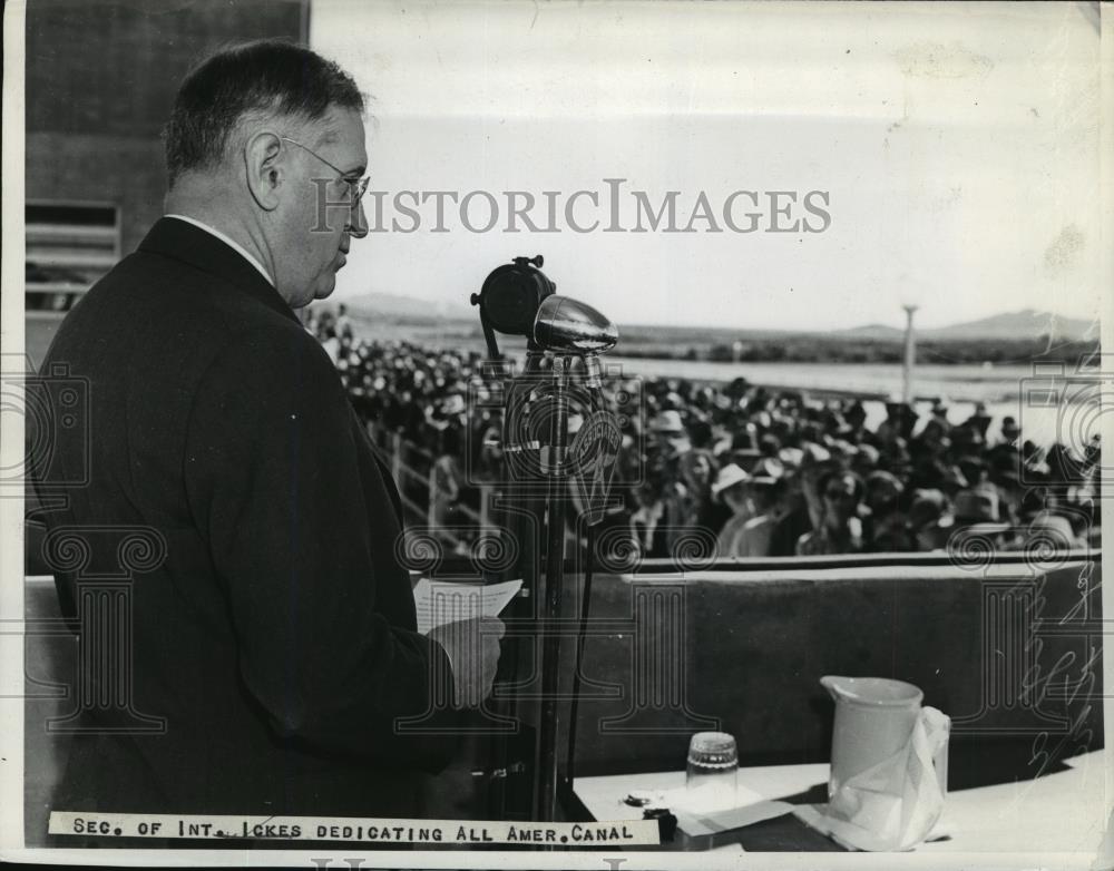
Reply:
[[[1074,756],[1065,760],[1065,764],[1066,769],[1034,780],[949,792],[930,840],[915,852],[1095,855],[1106,829],[1104,752]],[[631,791],[678,789],[684,782],[683,771],[579,777],[575,792],[596,820],[638,820],[642,810],[623,801]],[[793,804],[822,801],[827,794],[828,765],[740,769],[739,783],[765,800]],[[799,849],[815,849],[813,830],[799,823]],[[792,840],[798,835],[790,830],[784,836]]]

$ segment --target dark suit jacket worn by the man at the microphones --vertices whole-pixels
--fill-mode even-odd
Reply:
[[[60,598],[118,568],[106,528],[165,542],[133,572],[130,655],[133,707],[166,730],[108,734],[129,718],[87,705],[100,734],[74,738],[55,808],[420,814],[455,738],[395,717],[451,698],[451,669],[414,632],[398,493],[317,342],[240,254],[163,218],[67,316],[59,363],[90,417],[58,429],[50,477],[88,450],[89,482],[45,519],[101,528]]]

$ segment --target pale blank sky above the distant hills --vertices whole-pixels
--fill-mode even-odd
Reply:
[[[314,0],[311,45],[372,97],[382,231],[354,242],[334,299],[459,307],[492,268],[540,253],[559,293],[619,323],[900,326],[905,304],[922,326],[1026,307],[1094,319],[1096,17]],[[694,232],[665,232],[667,213],[652,226],[670,192],[673,229]],[[510,214],[528,196],[537,232]]]

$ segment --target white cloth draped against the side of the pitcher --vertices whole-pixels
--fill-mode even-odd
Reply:
[[[911,850],[944,811],[947,770],[935,760],[946,759],[950,730],[948,716],[922,708],[906,746],[850,777],[827,808],[803,805],[794,813],[852,850]]]

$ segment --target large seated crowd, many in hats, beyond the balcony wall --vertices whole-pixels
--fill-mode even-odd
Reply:
[[[426,458],[404,495],[432,527],[459,528],[478,487],[504,480],[501,394],[477,352],[356,337],[343,306],[306,324],[352,401],[379,432]],[[1001,550],[1097,544],[1101,453],[1025,440],[985,408],[960,423],[937,403],[887,403],[869,428],[853,398],[811,399],[735,379],[610,378],[623,446],[605,526],[645,557],[668,557],[694,530],[720,557],[946,551],[978,537]],[[571,415],[576,429],[580,417]],[[475,517],[472,512],[471,516]],[[458,521],[453,523],[453,521]]]

